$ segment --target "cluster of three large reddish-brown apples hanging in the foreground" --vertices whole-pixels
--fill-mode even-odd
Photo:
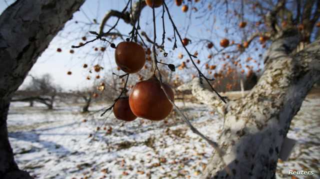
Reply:
[[[115,48],[114,57],[116,65],[128,74],[138,72],[144,66],[146,59],[143,47],[131,41],[120,42]],[[162,87],[173,101],[174,93],[170,86],[162,83]],[[171,111],[172,104],[155,76],[136,83],[129,97],[119,98],[113,106],[114,116],[124,121],[133,121],[137,117],[159,121]]]

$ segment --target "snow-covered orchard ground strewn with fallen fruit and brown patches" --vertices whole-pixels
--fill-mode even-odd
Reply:
[[[200,132],[216,139],[222,121],[210,108],[177,104]],[[174,113],[160,122],[123,123],[110,112],[101,118],[101,112],[80,109],[12,103],[7,123],[19,168],[36,179],[198,179],[212,153]],[[277,178],[291,179],[289,170],[313,171],[308,178],[320,178],[319,126],[320,95],[310,94],[291,123],[288,137],[298,143],[288,161],[278,162]]]

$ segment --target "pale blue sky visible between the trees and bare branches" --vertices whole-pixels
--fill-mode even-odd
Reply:
[[[14,0],[0,0],[0,13],[2,13],[7,5],[13,1]],[[105,42],[92,42],[84,47],[74,49],[74,54],[70,54],[69,50],[71,49],[71,45],[77,45],[79,42],[84,42],[81,40],[81,37],[83,36],[86,36],[88,40],[94,38],[94,36],[88,34],[88,31],[97,31],[99,27],[98,25],[93,24],[93,19],[96,19],[97,22],[100,22],[108,10],[115,9],[121,11],[126,2],[127,0],[86,0],[80,7],[79,11],[74,13],[73,18],[69,20],[65,24],[65,27],[58,33],[58,35],[53,38],[49,47],[37,59],[37,62],[34,64],[29,74],[39,77],[45,73],[49,73],[53,77],[53,83],[58,84],[64,90],[78,90],[92,86],[93,80],[86,80],[85,78],[87,75],[91,75],[91,78],[94,78],[94,76],[88,73],[88,69],[82,68],[84,63],[88,64],[89,67],[99,63],[104,67],[104,70],[100,72],[99,75],[102,77],[105,75],[110,75],[111,71],[114,71],[116,68],[113,58],[114,49],[106,48],[106,51],[103,52],[103,54],[101,54],[102,52],[95,52],[93,50],[94,47],[107,45]],[[197,14],[191,13],[190,9],[187,13],[183,13],[181,11],[181,6],[176,6],[171,0],[167,1],[167,4],[169,6],[173,21],[179,29],[182,38],[185,36],[190,39],[196,37],[200,40],[204,37],[209,39],[214,37],[214,39],[211,40],[218,43],[218,41],[225,36],[225,33],[222,31],[221,27],[211,25],[211,21],[218,21],[219,18],[215,18],[213,15],[209,16],[208,19],[197,18]],[[158,43],[161,42],[162,36],[161,10],[161,7],[155,10]],[[172,37],[172,25],[170,24],[167,16],[165,16],[164,19],[166,35],[168,37]],[[113,17],[107,22],[107,24],[112,26],[115,20],[116,18]],[[77,23],[75,23],[75,21],[77,21]],[[187,28],[188,24],[190,24],[190,28]],[[223,22],[223,24],[225,27],[230,25],[229,22]],[[148,6],[146,6],[141,12],[140,26],[141,29],[145,31],[151,39],[153,39],[152,9]],[[116,29],[122,32],[122,34],[128,34],[131,28],[131,26],[125,24],[121,20],[116,27]],[[108,27],[105,29],[108,29]],[[187,33],[185,33],[186,30]],[[120,41],[115,41],[115,44],[118,42]],[[172,48],[172,43],[166,40],[165,46],[166,49],[170,51]],[[191,53],[205,48],[203,45],[200,47],[195,46],[195,43],[188,45],[188,49]],[[56,52],[57,48],[61,48],[62,52]],[[183,49],[181,45],[178,44],[176,53],[182,50]],[[98,53],[99,55],[97,55]],[[176,53],[174,55],[176,55]],[[202,55],[202,58],[204,58],[207,56],[207,54],[207,51],[205,51],[200,55]],[[175,60],[174,56],[169,56],[168,58],[170,58],[171,62],[173,61],[172,63],[176,66],[181,63],[181,61]],[[194,69],[192,70],[191,71],[194,72]],[[67,71],[71,71],[72,75],[66,75]],[[177,75],[182,73],[189,72],[183,72],[179,70],[175,72]],[[30,77],[27,77],[24,83],[21,85],[21,88],[25,87],[29,81]]]

